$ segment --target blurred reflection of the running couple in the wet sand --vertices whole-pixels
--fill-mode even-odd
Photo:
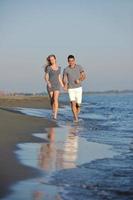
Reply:
[[[48,143],[41,146],[39,154],[39,166],[47,172],[65,168],[76,167],[78,136],[77,127],[67,127],[69,133],[56,134],[58,128],[49,128]]]

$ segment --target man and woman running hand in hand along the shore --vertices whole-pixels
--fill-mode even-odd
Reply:
[[[56,56],[49,55],[47,57],[47,65],[45,66],[44,78],[47,82],[53,119],[57,119],[58,97],[60,87],[62,87],[65,91],[68,91],[74,122],[78,122],[78,114],[82,102],[81,82],[85,79],[85,73],[84,69],[76,64],[75,57],[73,55],[68,56],[68,66],[64,69],[62,78],[61,67],[57,64]]]

